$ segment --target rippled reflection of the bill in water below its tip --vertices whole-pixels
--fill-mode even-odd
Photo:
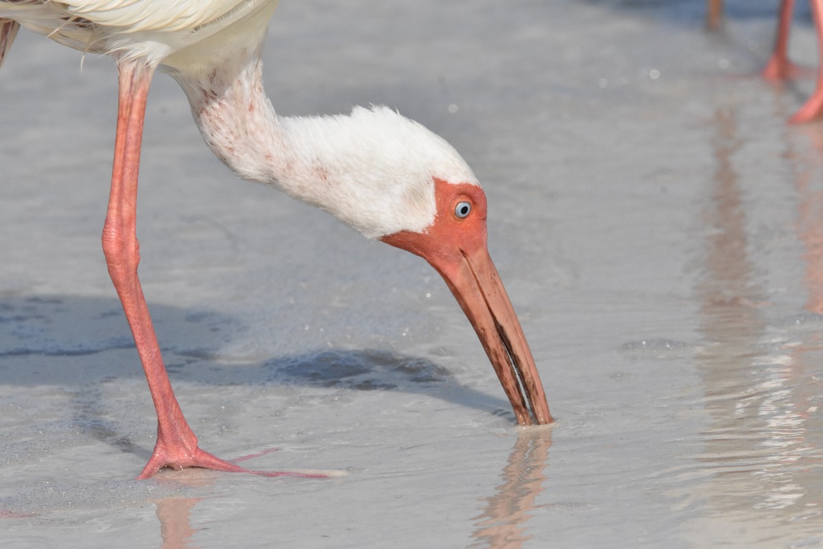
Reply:
[[[486,506],[477,516],[470,547],[517,549],[532,538],[526,534],[530,512],[537,507],[534,500],[543,491],[548,464],[551,429],[531,427],[518,430],[518,438],[500,477],[503,483],[495,487],[495,495],[483,498]]]

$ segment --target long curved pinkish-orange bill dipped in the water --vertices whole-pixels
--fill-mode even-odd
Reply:
[[[463,252],[459,265],[452,265],[448,272],[438,271],[480,337],[518,423],[551,423],[532,351],[486,247],[472,254]]]

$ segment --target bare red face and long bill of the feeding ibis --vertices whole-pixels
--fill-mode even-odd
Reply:
[[[532,351],[486,248],[486,195],[477,185],[435,179],[435,200],[435,221],[422,233],[403,230],[381,240],[421,256],[446,281],[480,337],[518,423],[551,423]],[[471,206],[463,218],[456,212],[461,202]]]

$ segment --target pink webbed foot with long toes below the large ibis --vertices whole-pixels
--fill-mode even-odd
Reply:
[[[152,477],[162,468],[171,468],[179,471],[184,468],[193,467],[224,472],[247,472],[262,477],[329,478],[340,476],[341,474],[341,472],[338,471],[253,471],[242,468],[236,463],[226,461],[225,459],[217,458],[213,454],[209,454],[197,445],[197,437],[191,435],[191,439],[193,439],[193,449],[191,449],[191,445],[184,444],[183,440],[178,440],[177,444],[168,444],[167,441],[158,438],[149,462],[146,463],[146,467],[143,468],[137,478],[146,479]],[[274,450],[270,449],[258,454],[244,456],[243,458],[239,458],[238,461],[256,458],[272,451]]]

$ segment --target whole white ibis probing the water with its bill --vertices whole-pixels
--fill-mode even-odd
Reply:
[[[247,472],[198,447],[172,392],[137,279],[137,168],[146,95],[157,69],[179,82],[207,145],[236,174],[425,258],[477,331],[518,423],[550,423],[531,351],[486,251],[486,197],[472,170],[443,139],[384,107],[278,116],[263,91],[260,60],[276,5],[0,0],[0,60],[21,25],[117,63],[119,111],[103,251],[157,412],[156,445],[139,477],[163,467]]]

